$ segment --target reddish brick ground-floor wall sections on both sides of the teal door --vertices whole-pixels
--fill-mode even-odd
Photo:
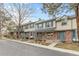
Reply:
[[[64,37],[63,40],[66,43],[72,43],[72,35],[73,35],[72,31],[67,30],[67,31],[65,31],[64,34],[65,34],[65,37]],[[41,39],[56,41],[56,40],[59,39],[58,35],[60,35],[60,34],[59,34],[59,32],[50,32],[50,33],[44,33],[43,32],[43,33],[39,33],[38,35],[41,35],[40,36]],[[39,36],[38,36],[38,38],[39,38]]]

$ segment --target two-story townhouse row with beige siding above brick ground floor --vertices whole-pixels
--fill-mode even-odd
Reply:
[[[23,25],[26,38],[60,40],[68,43],[78,41],[75,17],[65,16],[59,19],[39,20]]]

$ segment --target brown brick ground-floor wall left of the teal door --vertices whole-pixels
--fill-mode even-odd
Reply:
[[[38,39],[56,41],[58,39],[58,32],[41,32],[37,34]]]

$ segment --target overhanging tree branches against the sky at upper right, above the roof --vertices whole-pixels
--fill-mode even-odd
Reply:
[[[68,12],[73,10],[73,5],[74,4],[67,3],[44,3],[42,10],[54,18],[57,18],[58,15],[61,15],[59,17],[62,18],[66,16]]]

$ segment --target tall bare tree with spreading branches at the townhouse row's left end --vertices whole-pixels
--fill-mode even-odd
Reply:
[[[17,26],[18,38],[20,38],[23,23],[31,17],[34,10],[31,8],[30,4],[24,3],[9,4],[9,7],[10,9],[8,12]]]

